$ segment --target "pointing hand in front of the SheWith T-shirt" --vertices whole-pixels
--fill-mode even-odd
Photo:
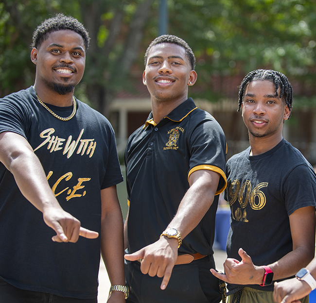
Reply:
[[[99,236],[99,233],[81,227],[80,221],[64,211],[59,205],[43,209],[43,219],[57,234],[52,237],[54,242],[75,243],[79,236],[88,239],[95,239]]]

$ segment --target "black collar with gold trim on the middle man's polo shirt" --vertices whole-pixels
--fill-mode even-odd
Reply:
[[[177,106],[171,113],[169,113],[165,118],[168,118],[175,122],[180,122],[186,118],[193,110],[197,109],[192,98],[188,98],[186,101],[182,102]],[[151,112],[147,118],[147,121],[143,128],[146,128],[149,124],[156,126],[157,123],[153,119],[153,113]]]

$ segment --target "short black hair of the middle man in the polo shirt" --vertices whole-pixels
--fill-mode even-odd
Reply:
[[[165,34],[165,35],[161,35],[159,37],[157,37],[156,39],[154,39],[148,46],[146,52],[145,52],[145,66],[147,64],[147,58],[148,58],[148,53],[151,50],[151,48],[154,45],[157,44],[161,44],[161,43],[173,43],[179,46],[182,46],[188,56],[189,62],[191,64],[191,69],[195,68],[195,56],[193,51],[191,50],[190,46],[188,45],[187,42],[185,42],[183,39],[174,36],[174,35],[170,35],[170,34]]]

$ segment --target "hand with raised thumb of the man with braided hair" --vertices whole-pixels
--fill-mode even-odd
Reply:
[[[240,248],[238,251],[242,260],[228,258],[224,263],[225,274],[210,269],[211,273],[229,284],[261,284],[263,282],[264,269],[255,266],[247,253]]]

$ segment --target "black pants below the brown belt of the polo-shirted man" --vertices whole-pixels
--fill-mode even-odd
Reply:
[[[125,262],[126,285],[130,295],[126,303],[219,303],[219,280],[210,269],[213,257],[205,257],[190,264],[175,265],[169,284],[160,289],[162,278],[150,277],[140,271],[139,262]]]

